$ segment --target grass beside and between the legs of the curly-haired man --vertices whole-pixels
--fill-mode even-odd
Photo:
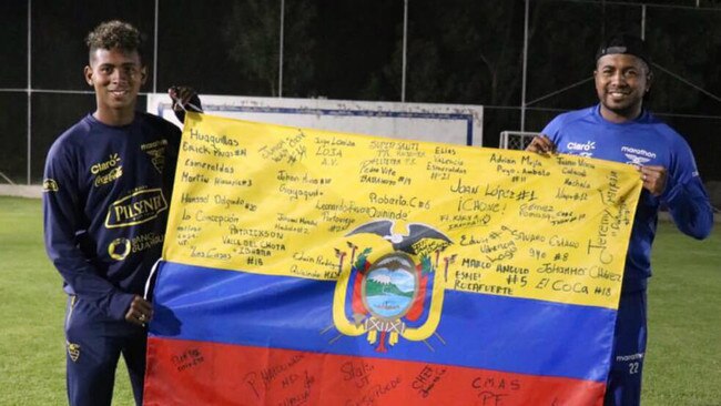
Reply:
[[[67,405],[62,280],[42,244],[40,200],[0,196],[0,405]],[[114,405],[134,405],[125,367]]]

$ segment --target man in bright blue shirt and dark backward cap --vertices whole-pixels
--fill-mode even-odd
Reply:
[[[687,142],[642,106],[652,80],[643,41],[613,35],[601,44],[596,61],[600,103],[558,115],[527,150],[593,156],[639,170],[643,191],[626,257],[605,398],[606,405],[632,406],[641,398],[646,287],[659,206],[667,206],[679,230],[695,238],[711,233],[713,211]]]

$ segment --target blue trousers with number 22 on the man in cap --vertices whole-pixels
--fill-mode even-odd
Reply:
[[[611,371],[606,383],[606,406],[634,406],[641,403],[646,305],[646,290],[621,294],[613,333]]]

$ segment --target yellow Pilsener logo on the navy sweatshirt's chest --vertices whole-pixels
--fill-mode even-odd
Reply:
[[[135,192],[123,197],[108,209],[108,229],[126,227],[151,221],[167,210],[167,202],[160,189]]]

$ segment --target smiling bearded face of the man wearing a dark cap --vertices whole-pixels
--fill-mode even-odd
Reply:
[[[651,72],[642,59],[624,53],[603,55],[596,63],[593,78],[606,120],[619,123],[639,116],[643,95],[651,89]]]

